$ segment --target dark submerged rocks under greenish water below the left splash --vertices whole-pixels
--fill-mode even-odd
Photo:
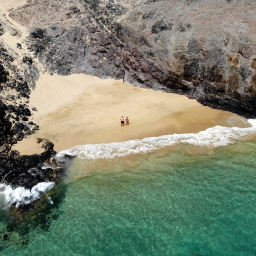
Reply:
[[[31,229],[46,231],[53,220],[57,219],[62,211],[59,205],[64,200],[66,185],[59,184],[46,194],[42,193],[40,199],[33,204],[26,204],[12,209],[4,210],[2,217],[7,224],[5,230],[0,232],[0,252],[9,246],[24,247],[29,243],[28,236]],[[48,197],[54,202],[49,203]]]

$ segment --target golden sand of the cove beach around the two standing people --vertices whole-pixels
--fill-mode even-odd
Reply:
[[[29,105],[37,109],[32,120],[40,130],[13,147],[21,154],[42,152],[38,137],[49,139],[60,151],[76,145],[199,132],[215,126],[214,120],[223,113],[234,115],[185,96],[84,74],[41,74]],[[121,128],[121,116],[128,116],[129,126]]]

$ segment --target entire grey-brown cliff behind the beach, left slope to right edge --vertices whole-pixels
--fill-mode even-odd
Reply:
[[[124,78],[255,117],[256,2],[34,0],[10,16],[50,73]]]

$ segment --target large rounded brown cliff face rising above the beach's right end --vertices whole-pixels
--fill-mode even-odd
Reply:
[[[117,31],[122,62],[149,87],[255,117],[255,8],[246,0],[144,1]]]

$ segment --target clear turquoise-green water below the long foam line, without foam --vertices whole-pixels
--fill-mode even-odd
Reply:
[[[48,229],[31,229],[27,244],[0,255],[256,255],[255,141],[210,151],[181,146],[107,167],[108,160],[73,161],[71,173],[98,167],[67,178],[61,214]]]

